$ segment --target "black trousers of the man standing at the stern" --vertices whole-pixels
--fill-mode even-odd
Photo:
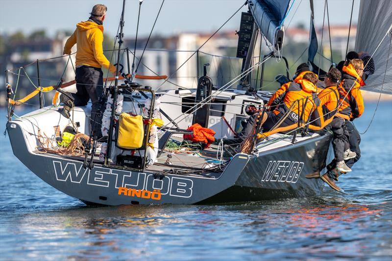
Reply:
[[[90,123],[96,137],[101,137],[103,109],[103,104],[100,102],[103,93],[102,70],[91,66],[80,66],[76,68],[75,80],[77,92],[72,94],[75,99],[74,104],[75,106],[86,106],[91,99]]]

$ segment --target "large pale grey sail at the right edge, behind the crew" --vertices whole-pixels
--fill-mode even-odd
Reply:
[[[388,33],[373,55],[375,71],[373,75],[368,77],[366,85],[363,87],[368,91],[392,94],[392,48],[389,51],[392,37],[391,26],[391,0],[361,1],[355,50],[368,52],[371,55]]]

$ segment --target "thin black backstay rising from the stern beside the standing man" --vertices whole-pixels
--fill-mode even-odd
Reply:
[[[110,154],[112,150],[112,141],[113,141],[113,124],[114,124],[114,118],[116,114],[116,103],[117,103],[117,85],[119,84],[119,66],[120,66],[120,50],[121,46],[123,45],[123,27],[124,27],[124,11],[125,11],[125,0],[123,0],[123,11],[121,13],[121,19],[120,19],[120,33],[118,35],[119,37],[119,51],[117,54],[117,66],[116,66],[116,76],[115,76],[115,81],[114,81],[114,86],[113,86],[113,104],[112,104],[112,114],[110,115],[110,128],[109,128],[109,136],[108,142],[107,142],[107,150],[106,150],[106,156],[105,156],[105,165],[110,164]]]

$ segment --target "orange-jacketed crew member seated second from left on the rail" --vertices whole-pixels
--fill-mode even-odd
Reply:
[[[335,114],[339,108],[339,91],[338,83],[342,79],[342,74],[336,68],[331,68],[324,78],[326,88],[319,94],[319,106],[312,113],[309,129],[319,134],[325,133],[331,129]]]

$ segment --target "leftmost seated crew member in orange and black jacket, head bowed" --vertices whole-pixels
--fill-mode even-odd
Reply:
[[[319,105],[317,97],[317,75],[304,71],[293,82],[283,84],[270,98],[267,119],[263,131],[291,133],[300,125],[306,124],[312,112]],[[289,111],[290,110],[290,111]],[[278,123],[284,117],[281,123]]]

